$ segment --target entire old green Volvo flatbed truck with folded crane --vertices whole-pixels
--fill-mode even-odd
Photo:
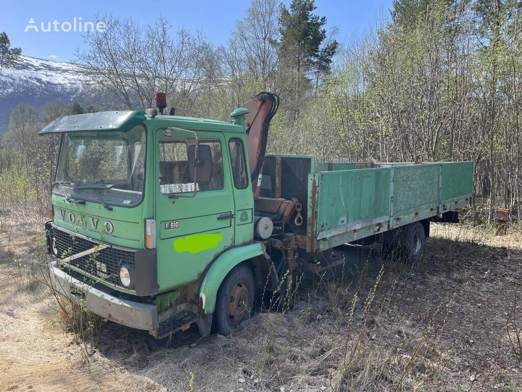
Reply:
[[[229,121],[164,115],[158,97],[159,112],[78,114],[40,132],[61,135],[45,223],[53,289],[158,339],[191,325],[228,335],[297,271],[338,264],[343,244],[419,260],[430,222],[456,222],[473,200],[473,162],[266,154],[275,94]]]

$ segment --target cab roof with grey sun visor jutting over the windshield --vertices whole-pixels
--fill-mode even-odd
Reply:
[[[240,125],[230,122],[201,119],[195,117],[166,116],[159,114],[150,117],[142,111],[123,110],[123,111],[103,111],[96,113],[75,114],[54,120],[39,134],[54,134],[78,131],[123,131],[127,132],[136,125],[143,122],[153,122],[152,126],[177,126],[178,128],[190,128],[205,131],[230,131],[244,132]]]

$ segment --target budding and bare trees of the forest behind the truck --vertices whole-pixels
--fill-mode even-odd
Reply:
[[[281,98],[268,152],[323,162],[476,163],[476,223],[497,207],[520,220],[522,15],[516,0],[394,0],[363,34],[339,37],[313,0],[252,0],[229,43],[98,14],[76,62],[81,101],[23,103],[0,151],[0,198],[39,206],[49,198],[57,139],[37,132],[65,114],[144,110],[157,91],[182,116],[227,120],[259,91]],[[15,179],[13,181],[13,179]]]

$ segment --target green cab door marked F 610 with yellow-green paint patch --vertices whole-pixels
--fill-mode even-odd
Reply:
[[[189,133],[155,137],[156,229],[160,290],[196,281],[208,263],[234,245],[235,207],[229,154],[223,134],[198,132],[199,145],[210,146],[211,179],[198,182],[188,168]],[[193,197],[191,197],[193,196]]]

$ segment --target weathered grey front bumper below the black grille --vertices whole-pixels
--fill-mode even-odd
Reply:
[[[74,303],[82,303],[100,317],[156,335],[159,328],[156,306],[127,301],[104,293],[65,273],[58,268],[56,261],[51,262],[49,272],[54,290]]]

